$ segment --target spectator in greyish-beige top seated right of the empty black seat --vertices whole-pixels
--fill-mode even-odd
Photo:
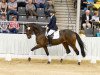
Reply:
[[[37,13],[35,12],[36,8],[35,5],[32,4],[32,0],[28,0],[28,4],[26,5],[26,16],[27,18],[29,16],[38,16]]]

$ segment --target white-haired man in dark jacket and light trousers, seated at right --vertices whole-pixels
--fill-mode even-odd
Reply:
[[[90,11],[86,10],[85,14],[82,15],[82,24],[81,24],[81,29],[83,28],[90,28],[91,27],[91,20],[92,16],[90,15]]]

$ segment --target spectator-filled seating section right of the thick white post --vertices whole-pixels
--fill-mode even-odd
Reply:
[[[81,26],[87,37],[100,37],[100,0],[81,0]],[[100,4],[99,4],[100,5]]]

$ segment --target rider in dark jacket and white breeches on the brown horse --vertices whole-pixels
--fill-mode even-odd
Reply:
[[[50,11],[51,19],[50,19],[49,24],[47,25],[48,26],[47,37],[48,37],[49,45],[51,45],[51,41],[52,41],[51,34],[53,34],[58,29],[58,27],[56,25],[55,13],[56,13],[55,11]]]

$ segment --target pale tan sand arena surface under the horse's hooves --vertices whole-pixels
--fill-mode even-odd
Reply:
[[[0,60],[0,75],[100,75],[100,61],[91,64],[90,61],[82,61],[77,65],[77,61],[52,60],[47,64],[47,60],[13,59],[11,62]]]

